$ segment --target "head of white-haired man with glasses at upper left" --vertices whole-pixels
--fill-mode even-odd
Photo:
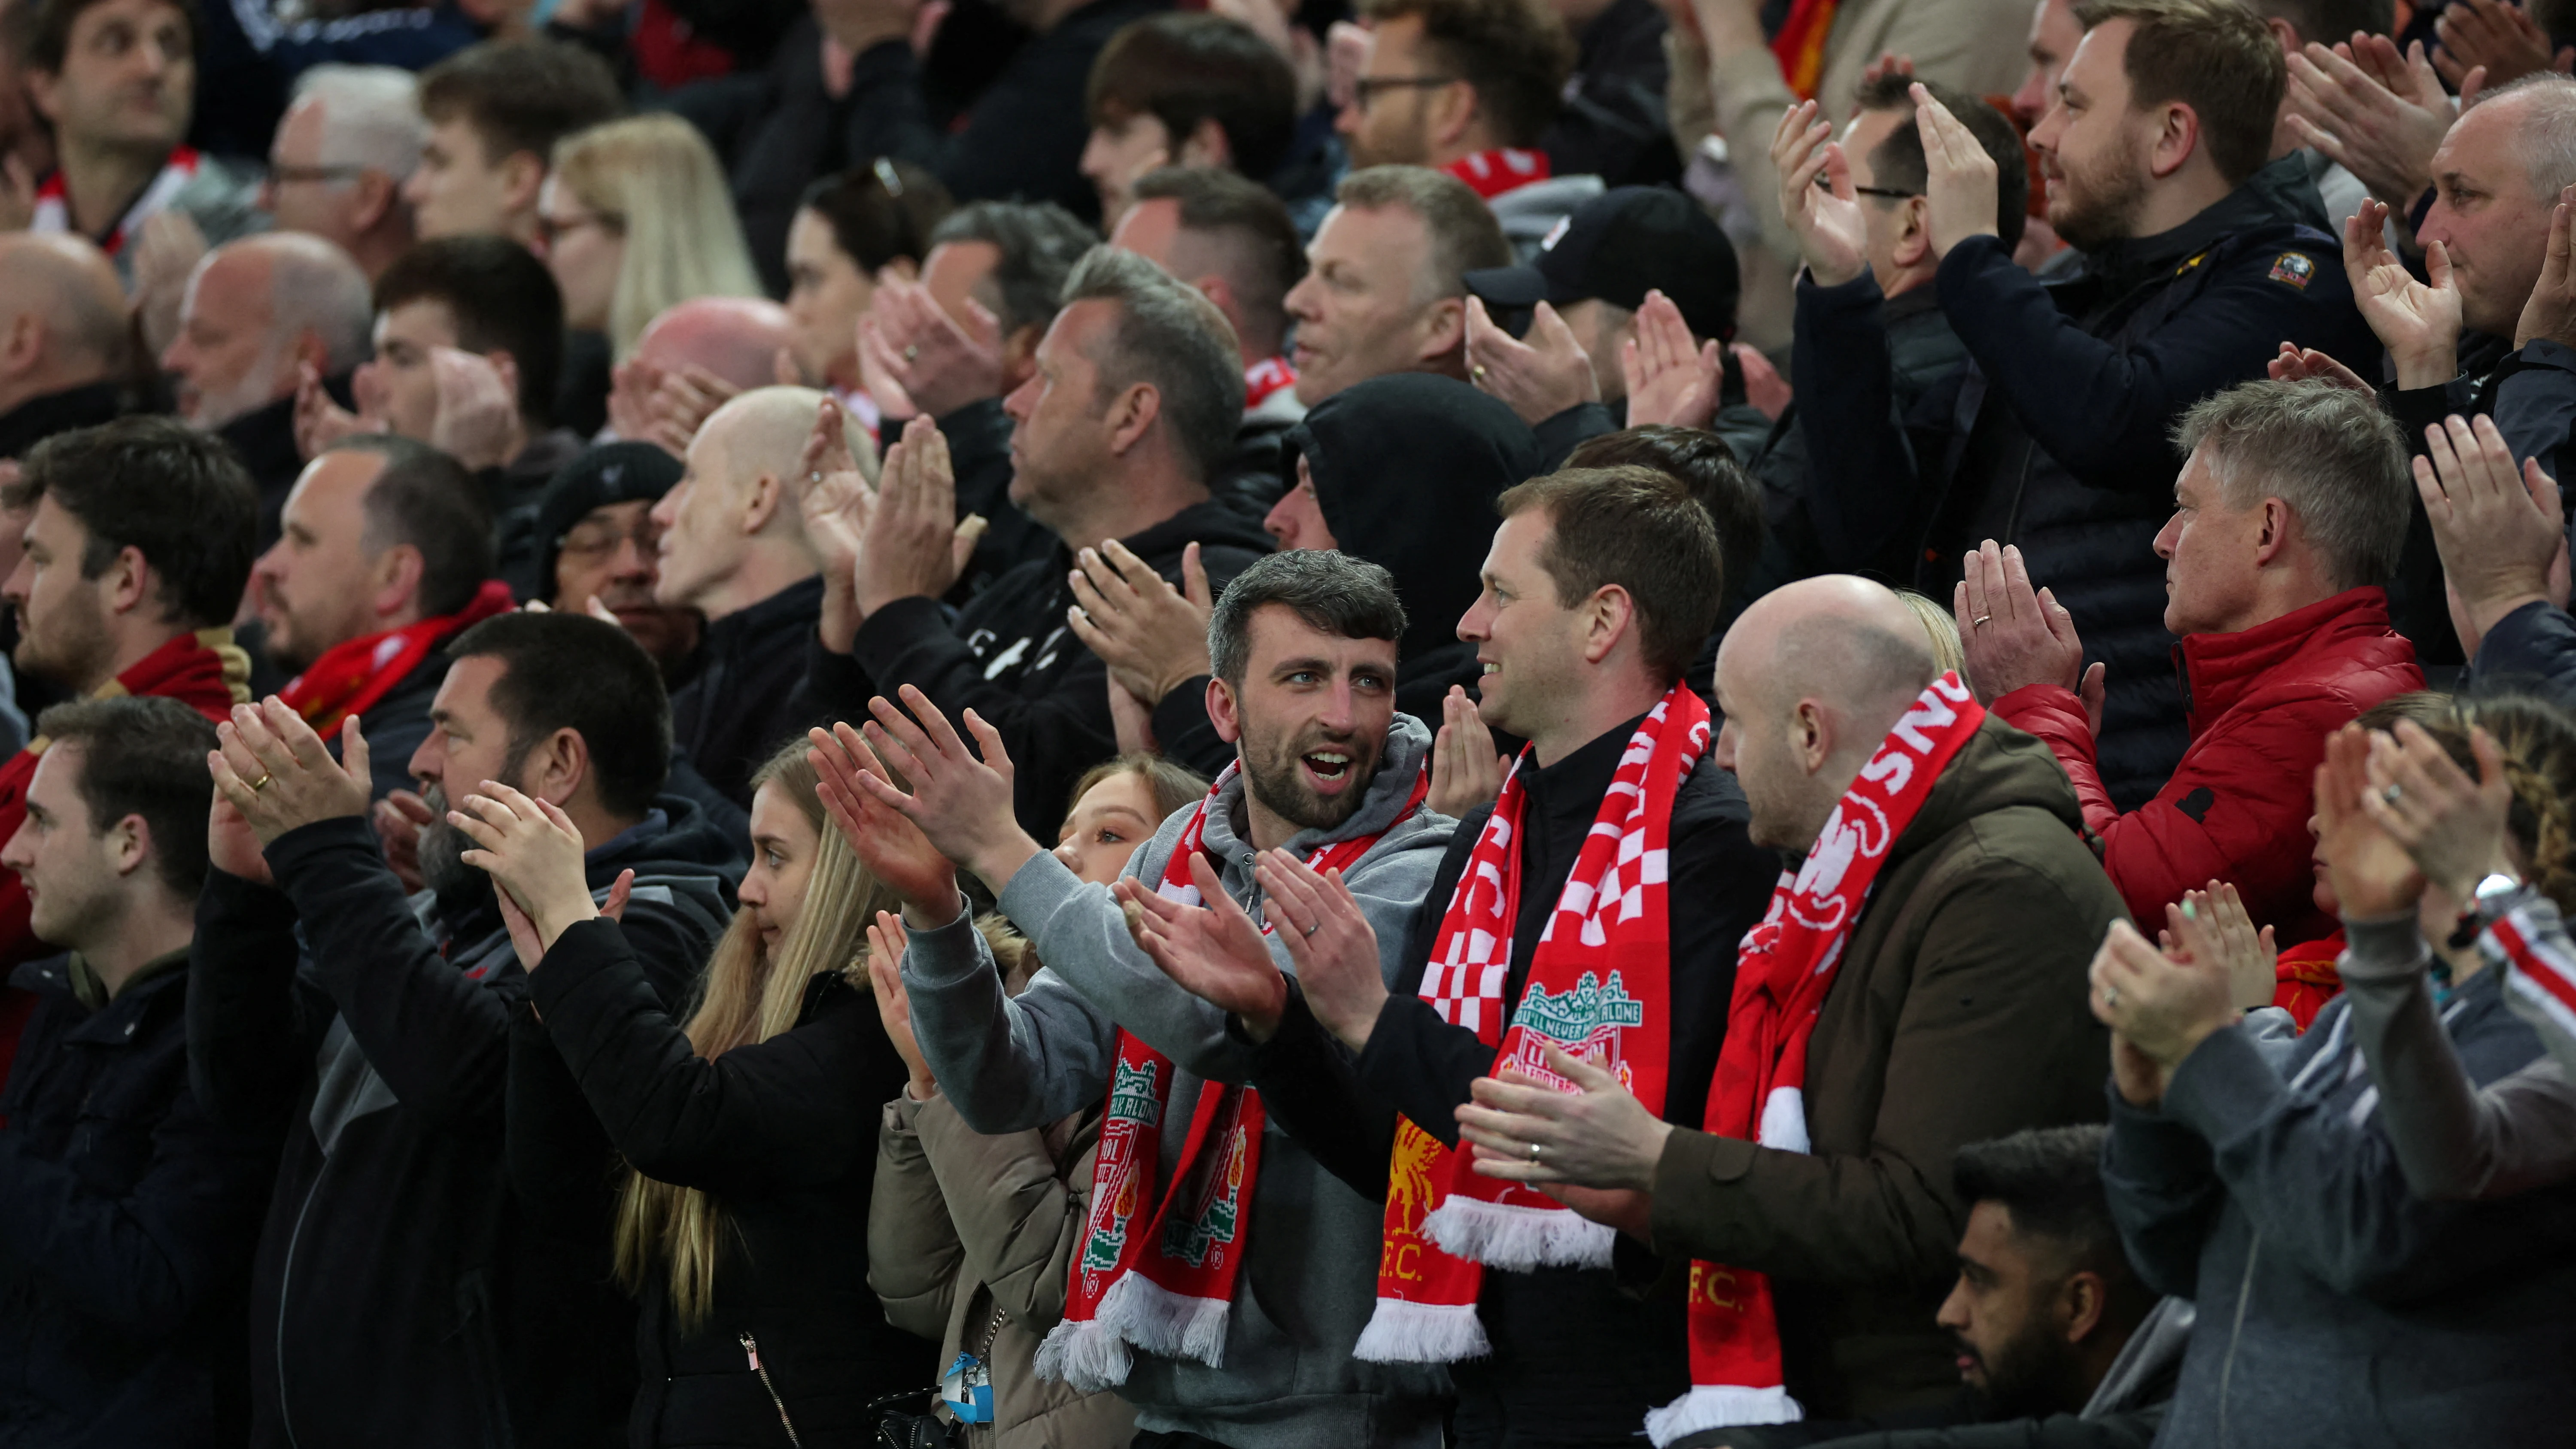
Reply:
[[[317,64],[296,80],[296,103],[268,147],[260,209],[281,232],[337,242],[374,281],[412,245],[402,183],[420,168],[428,139],[412,72]]]

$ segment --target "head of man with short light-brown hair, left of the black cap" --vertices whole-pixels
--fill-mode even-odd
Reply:
[[[1455,175],[1373,165],[1342,178],[1288,289],[1298,402],[1391,371],[1466,382],[1466,273],[1512,266],[1502,222]]]

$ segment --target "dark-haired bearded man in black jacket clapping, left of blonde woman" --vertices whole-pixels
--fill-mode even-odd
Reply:
[[[198,1101],[291,1109],[250,1271],[255,1444],[595,1444],[631,1410],[631,1307],[598,1243],[533,1227],[500,1173],[510,1013],[528,977],[446,810],[502,781],[556,804],[598,900],[631,871],[623,931],[677,1003],[724,931],[737,843],[662,794],[662,678],[621,629],[487,619],[448,645],[410,755],[433,825],[404,897],[368,830],[368,745],[348,768],[276,696],[222,727],[188,1000]]]

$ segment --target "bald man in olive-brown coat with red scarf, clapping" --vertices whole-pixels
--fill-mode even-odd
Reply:
[[[1705,1114],[1659,1119],[1561,1052],[1571,1096],[1522,1067],[1458,1114],[1481,1176],[1690,1261],[1690,1392],[1646,1418],[1656,1449],[1950,1400],[1953,1152],[2102,1119],[2084,962],[2120,895],[2048,748],[1932,668],[1914,614],[1852,575],[1747,608],[1713,755],[1754,841],[1803,861],[1744,938]]]

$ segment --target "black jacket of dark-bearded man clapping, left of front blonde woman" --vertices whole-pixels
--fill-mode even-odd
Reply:
[[[677,1000],[732,913],[734,846],[677,797],[657,810],[592,851],[590,884],[636,871],[623,931]],[[206,879],[188,995],[198,1101],[294,1114],[250,1271],[250,1444],[616,1441],[629,1310],[502,1173],[528,977],[497,908],[404,900],[363,817],[265,853],[276,890]]]

